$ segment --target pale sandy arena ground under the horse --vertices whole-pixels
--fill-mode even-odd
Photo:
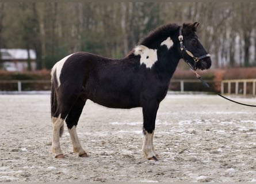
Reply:
[[[255,98],[235,98],[256,104]],[[49,95],[0,95],[0,182],[256,182],[256,109],[216,95],[173,95],[156,118],[158,162],[143,158],[142,109],[87,101],[78,136],[89,158],[51,153]]]

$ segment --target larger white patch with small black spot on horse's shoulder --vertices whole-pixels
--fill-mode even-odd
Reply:
[[[146,64],[147,68],[151,68],[155,62],[157,62],[157,49],[151,49],[144,45],[139,45],[135,47],[135,55],[140,55],[140,64]]]

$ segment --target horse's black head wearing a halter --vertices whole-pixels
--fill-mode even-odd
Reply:
[[[194,70],[205,70],[211,67],[212,60],[196,35],[198,25],[198,22],[183,24],[179,30],[179,43],[181,55],[189,66]]]

